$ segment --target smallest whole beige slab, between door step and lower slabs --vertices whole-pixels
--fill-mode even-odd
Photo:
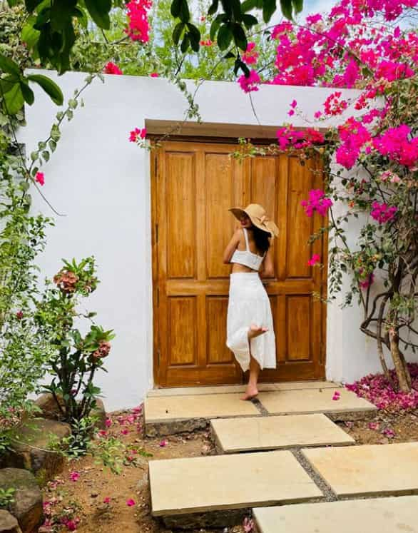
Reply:
[[[355,444],[350,435],[325,415],[219,418],[211,420],[210,425],[220,453]]]

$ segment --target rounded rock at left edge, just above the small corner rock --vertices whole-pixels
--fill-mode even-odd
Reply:
[[[36,530],[44,519],[42,494],[34,474],[20,468],[4,468],[0,470],[0,488],[14,487],[14,502],[10,505],[11,514],[16,517],[23,533]],[[1,523],[1,522],[0,522]],[[0,531],[2,531],[0,529]],[[6,530],[7,531],[7,530]],[[14,530],[11,529],[13,532]],[[16,533],[20,529],[16,529]]]

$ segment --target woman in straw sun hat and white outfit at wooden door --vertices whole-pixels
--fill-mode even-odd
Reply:
[[[258,395],[260,370],[276,367],[270,300],[259,273],[273,274],[270,238],[277,236],[278,229],[257,203],[230,211],[240,220],[241,227],[235,231],[223,254],[224,263],[233,263],[226,344],[243,372],[250,369],[243,400],[251,400]]]

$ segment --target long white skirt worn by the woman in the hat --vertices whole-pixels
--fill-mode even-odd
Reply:
[[[252,324],[268,328],[268,331],[249,343],[248,330]],[[230,275],[226,345],[234,352],[243,372],[250,367],[250,355],[261,369],[276,367],[270,300],[257,272]]]

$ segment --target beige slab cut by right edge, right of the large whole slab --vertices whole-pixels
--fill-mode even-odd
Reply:
[[[418,494],[418,442],[302,453],[337,496]]]

